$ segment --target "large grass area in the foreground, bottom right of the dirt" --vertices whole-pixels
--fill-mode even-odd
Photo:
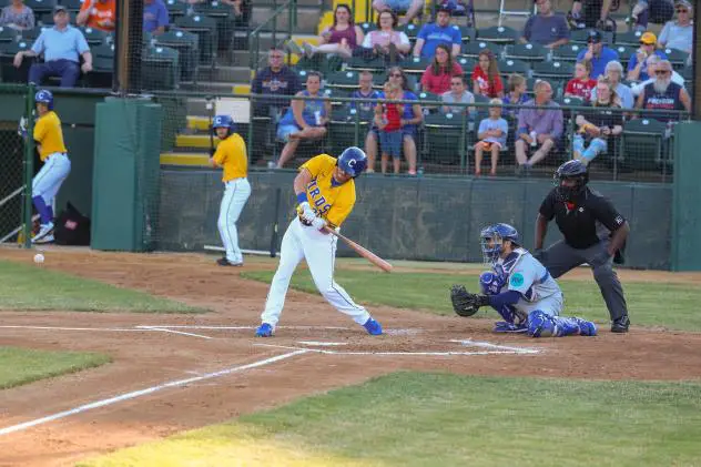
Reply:
[[[81,466],[698,466],[698,383],[396,373]]]

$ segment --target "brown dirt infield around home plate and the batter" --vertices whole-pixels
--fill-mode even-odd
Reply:
[[[3,260],[30,262],[32,255],[0,250]],[[488,319],[376,307],[373,314],[388,334],[370,337],[319,296],[294,291],[277,336],[255,339],[253,327],[267,285],[240,278],[237,268],[216,268],[211,256],[89,251],[45,255],[42,267],[213,312],[0,312],[0,345],[102,352],[114,359],[100,368],[3,390],[0,466],[71,465],[397,369],[600,379],[701,377],[701,354],[693,352],[701,347],[698,333],[633,327],[628,335],[613,335],[605,328],[593,338],[528,339],[496,336]],[[246,265],[271,267],[273,263],[255,260]],[[621,276],[694,283],[700,277],[633,271]],[[590,275],[585,271],[582,277]],[[98,402],[96,407],[85,406]],[[49,416],[54,417],[42,420]]]

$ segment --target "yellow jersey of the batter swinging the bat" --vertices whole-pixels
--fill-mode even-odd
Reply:
[[[312,181],[306,187],[309,204],[317,215],[332,226],[341,226],[355,205],[355,180],[344,184],[333,182],[336,159],[328,154],[319,154],[309,159],[299,170],[308,170]]]

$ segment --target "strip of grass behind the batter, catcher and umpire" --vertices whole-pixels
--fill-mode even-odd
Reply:
[[[273,272],[251,271],[241,275],[270,283]],[[368,305],[423,309],[453,315],[448,297],[451,284],[464,283],[477,291],[475,276],[443,273],[393,273],[337,270],[336,282],[356,301]],[[609,313],[593,277],[591,281],[558,281],[565,292],[565,315],[578,315],[599,323],[608,322]],[[318,293],[308,271],[299,270],[292,278],[296,290]],[[664,326],[670,329],[701,331],[701,286],[690,284],[623,283],[630,317],[634,325]],[[497,314],[482,308],[477,316]]]

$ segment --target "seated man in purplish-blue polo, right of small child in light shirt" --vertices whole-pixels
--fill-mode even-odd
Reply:
[[[550,83],[538,81],[535,91],[536,98],[526,102],[526,105],[539,105],[545,109],[521,109],[518,112],[516,172],[519,175],[529,172],[531,166],[542,161],[557,146],[562,135],[562,111],[552,101]],[[530,159],[527,156],[528,148],[534,151]]]

